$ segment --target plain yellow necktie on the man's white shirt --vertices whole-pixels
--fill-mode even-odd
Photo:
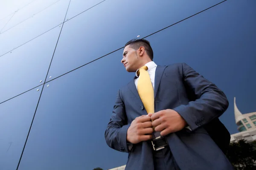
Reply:
[[[146,70],[148,70],[147,66],[143,66],[138,70],[137,74],[140,78],[138,80],[137,88],[147,113],[154,113],[154,88],[148,71]]]

